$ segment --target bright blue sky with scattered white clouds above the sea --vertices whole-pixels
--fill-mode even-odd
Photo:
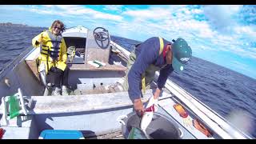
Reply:
[[[256,6],[0,6],[0,22],[48,27],[55,19],[139,41],[182,37],[195,57],[256,79]]]

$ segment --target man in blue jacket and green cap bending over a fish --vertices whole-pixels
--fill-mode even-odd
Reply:
[[[134,103],[134,110],[144,111],[142,90],[145,91],[145,86],[154,80],[155,71],[160,70],[158,88],[154,92],[154,99],[157,99],[169,74],[173,71],[181,72],[191,56],[192,50],[182,38],[172,43],[164,38],[153,37],[135,46],[127,62],[124,83],[124,89],[128,90]]]

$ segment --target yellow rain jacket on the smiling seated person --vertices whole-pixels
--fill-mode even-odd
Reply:
[[[39,43],[38,39],[42,37],[42,42]],[[38,36],[32,39],[32,45],[34,47],[40,47],[41,54],[39,56],[39,62],[46,64],[46,74],[52,66],[56,66],[58,69],[64,71],[66,68],[66,43],[62,35],[55,36],[50,30],[43,31]],[[38,71],[40,66],[38,66]]]

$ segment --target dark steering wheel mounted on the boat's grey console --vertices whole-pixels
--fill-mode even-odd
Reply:
[[[106,49],[110,45],[109,31],[103,27],[96,27],[94,29],[94,39],[97,45],[102,49]]]

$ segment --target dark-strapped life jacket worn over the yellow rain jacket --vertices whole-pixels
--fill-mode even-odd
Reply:
[[[54,36],[49,30],[46,31],[50,40],[46,42],[46,45],[42,44],[41,54],[46,56],[46,60],[49,61],[50,57],[52,61],[56,62],[60,57],[61,43],[62,43],[62,35]],[[50,42],[50,43],[48,43]]]

